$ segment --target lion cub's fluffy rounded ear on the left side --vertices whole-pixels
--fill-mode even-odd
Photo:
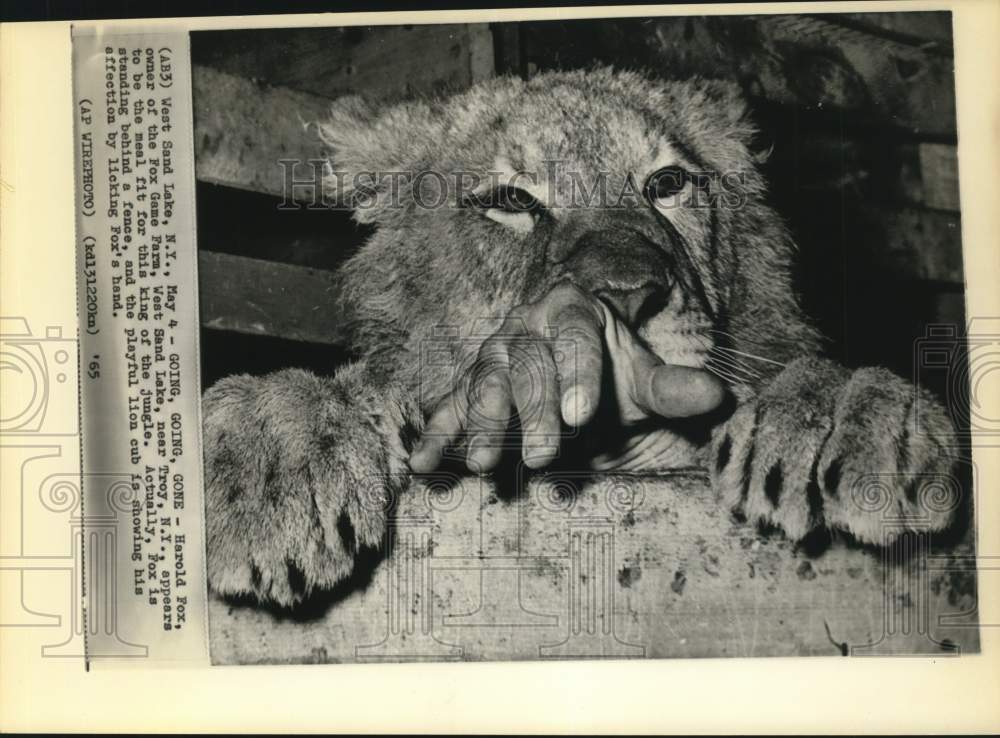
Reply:
[[[357,95],[336,100],[317,126],[328,147],[327,197],[353,206],[362,223],[391,218],[428,149],[441,140],[440,121],[425,102],[386,105]]]

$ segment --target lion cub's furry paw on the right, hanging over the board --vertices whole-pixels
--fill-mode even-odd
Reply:
[[[883,543],[954,517],[955,432],[944,409],[885,369],[789,364],[715,434],[715,489],[738,515],[801,539],[818,527]]]

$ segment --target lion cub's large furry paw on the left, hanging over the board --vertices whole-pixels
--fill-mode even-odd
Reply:
[[[392,494],[384,435],[340,378],[227,377],[204,396],[208,575],[290,607],[378,547]]]

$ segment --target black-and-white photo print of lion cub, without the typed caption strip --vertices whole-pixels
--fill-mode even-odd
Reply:
[[[213,662],[979,651],[949,13],[191,49]]]

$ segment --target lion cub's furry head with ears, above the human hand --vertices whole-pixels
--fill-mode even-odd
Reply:
[[[741,113],[717,85],[608,70],[435,106],[344,103],[322,130],[356,216],[379,226],[348,267],[367,281],[351,299],[411,334],[475,335],[570,280],[664,361],[702,366],[735,263],[726,236],[759,189]]]

